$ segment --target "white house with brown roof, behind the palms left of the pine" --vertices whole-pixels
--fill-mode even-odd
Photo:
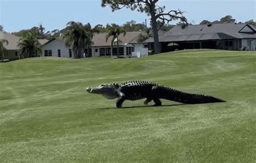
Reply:
[[[138,38],[141,32],[126,32],[126,35],[119,36],[119,55],[124,57],[131,57],[137,53],[142,55],[147,55],[147,48],[144,48],[143,45],[137,44],[134,40]],[[92,39],[93,44],[89,49],[89,54],[87,53],[87,47],[84,49],[86,57],[112,57],[117,56],[117,45],[114,42],[113,47],[111,47],[110,37],[106,42],[107,33],[98,33]],[[131,43],[133,42],[133,44]],[[137,45],[136,45],[137,44]],[[43,56],[55,56],[55,57],[66,57],[74,58],[74,53],[71,47],[66,47],[63,38],[53,38],[46,42],[43,47]],[[134,53],[135,52],[135,53]]]

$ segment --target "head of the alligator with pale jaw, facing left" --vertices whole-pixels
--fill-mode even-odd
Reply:
[[[87,87],[86,91],[93,94],[101,94],[107,99],[115,99],[118,97],[116,85],[103,84],[97,87]]]

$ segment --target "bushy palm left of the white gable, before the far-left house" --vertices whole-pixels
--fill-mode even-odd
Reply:
[[[41,44],[39,43],[37,37],[35,35],[32,35],[32,33],[30,32],[26,33],[24,37],[19,39],[18,46],[19,46],[19,53],[24,54],[25,58],[35,57],[33,55],[35,53],[37,56],[38,51],[42,53]]]

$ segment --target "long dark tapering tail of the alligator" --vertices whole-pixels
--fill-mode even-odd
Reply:
[[[162,97],[166,100],[177,101],[183,104],[204,104],[204,103],[221,103],[225,100],[218,99],[204,94],[186,93],[171,89],[169,87],[160,86]]]

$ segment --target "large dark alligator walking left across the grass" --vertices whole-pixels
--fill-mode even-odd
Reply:
[[[192,94],[171,89],[163,85],[144,80],[131,80],[124,83],[103,84],[97,87],[87,87],[89,93],[101,94],[107,99],[117,99],[117,108],[122,107],[125,100],[146,98],[144,104],[154,101],[153,106],[161,106],[160,99],[172,100],[183,104],[220,103],[225,100],[203,94]]]

